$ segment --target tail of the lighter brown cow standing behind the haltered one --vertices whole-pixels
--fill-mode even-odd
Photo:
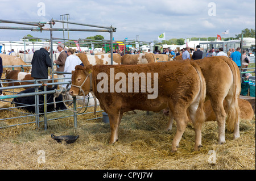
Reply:
[[[229,131],[234,131],[234,128],[239,124],[240,108],[238,106],[238,98],[241,91],[241,78],[240,71],[236,63],[230,58],[224,57],[223,60],[229,65],[233,75],[233,87],[232,87],[232,100],[230,103],[228,116],[226,119],[226,127]]]

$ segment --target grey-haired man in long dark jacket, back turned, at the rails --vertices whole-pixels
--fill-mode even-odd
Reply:
[[[31,77],[34,79],[48,79],[48,67],[52,66],[52,60],[49,57],[49,44],[44,44],[42,48],[36,50],[32,61]]]

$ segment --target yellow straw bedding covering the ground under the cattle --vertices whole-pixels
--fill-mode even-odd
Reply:
[[[100,110],[100,108],[98,108]],[[93,112],[93,107],[88,112]],[[15,113],[1,111],[1,118]],[[52,113],[50,116],[60,116]],[[97,116],[102,116],[97,113]],[[0,169],[255,169],[255,115],[253,120],[242,120],[241,137],[233,140],[226,131],[226,144],[218,145],[216,122],[203,126],[200,151],[193,150],[195,132],[189,123],[176,153],[171,142],[176,132],[164,131],[168,118],[161,112],[127,112],[118,130],[119,140],[109,145],[110,127],[101,119],[86,121],[93,114],[77,116],[77,129],[73,118],[48,121],[47,131],[33,124],[0,129]],[[2,121],[13,124],[31,121],[28,118]],[[1,123],[0,121],[0,124]],[[73,144],[58,143],[51,134],[80,135]],[[38,151],[45,153],[46,163],[38,162]],[[209,163],[208,152],[216,152],[216,163]]]

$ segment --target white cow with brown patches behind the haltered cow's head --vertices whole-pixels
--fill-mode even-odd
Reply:
[[[100,55],[90,55],[84,53],[76,54],[82,61],[84,66],[87,65],[111,65],[111,54],[100,54]],[[113,65],[120,65],[121,64],[121,55],[118,53],[113,53]]]

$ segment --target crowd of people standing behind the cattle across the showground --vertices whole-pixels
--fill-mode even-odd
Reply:
[[[32,54],[33,58],[31,61],[31,65],[32,65],[32,69],[31,69],[31,77],[35,78],[35,79],[47,79],[48,78],[48,67],[51,67],[51,58],[49,57],[49,44],[44,44],[42,48],[40,48],[39,50],[36,50],[34,52],[34,50],[30,50],[28,49],[26,51],[26,53]],[[170,54],[170,55],[174,55],[174,57],[181,55],[183,60],[186,59],[193,59],[193,60],[198,60],[198,59],[202,59],[203,58],[203,51],[200,50],[200,45],[196,46],[196,50],[191,52],[191,48],[186,47],[183,48],[181,50],[177,50],[177,49],[169,49],[166,48],[164,49],[163,52],[161,52],[160,50],[154,50],[153,53],[155,54]],[[79,57],[74,56],[73,54],[75,53],[75,49],[72,48],[65,48],[63,43],[59,43],[57,45],[57,51],[59,52],[59,57],[57,58],[57,60],[54,61],[54,63],[56,64],[57,68],[55,71],[60,71],[60,72],[71,72],[72,70],[75,70],[75,66],[76,65],[82,65],[81,60],[79,59]],[[11,54],[11,52],[14,52],[14,49],[11,49],[11,51],[9,51],[9,54]],[[150,50],[148,50],[148,52],[150,52]],[[230,48],[229,51],[227,53],[225,53],[223,51],[223,48],[219,48],[217,50],[215,50],[214,48],[211,49],[209,51],[210,53],[212,53],[210,56],[226,56],[229,57],[231,60],[233,60],[234,62],[236,62],[238,68],[240,68],[242,66],[242,68],[247,68],[248,64],[250,62],[250,58],[249,56],[246,55],[246,50],[242,51],[241,54],[241,48],[237,48],[236,50],[234,48]],[[82,52],[85,53],[85,52]],[[144,53],[144,51],[141,50],[126,50],[126,52],[124,53],[124,50],[118,50],[118,49],[114,49],[113,53],[118,53],[121,56],[123,56],[124,54],[139,54],[139,53]],[[93,50],[90,50],[90,54],[94,55]],[[191,56],[192,54],[192,56]],[[242,65],[241,65],[241,55],[242,55]],[[208,54],[207,54],[208,56]],[[0,73],[2,74],[2,58],[0,57]],[[243,70],[246,71],[246,70]],[[68,80],[71,81],[71,74],[62,74],[62,73],[58,73],[58,81],[59,82],[63,82],[63,78],[69,78]],[[244,74],[246,77],[248,77],[248,75]],[[67,81],[68,81],[67,80]],[[67,85],[63,85],[63,86],[67,86]],[[0,84],[1,87],[1,84]],[[2,94],[2,92],[0,91],[0,95]]]

